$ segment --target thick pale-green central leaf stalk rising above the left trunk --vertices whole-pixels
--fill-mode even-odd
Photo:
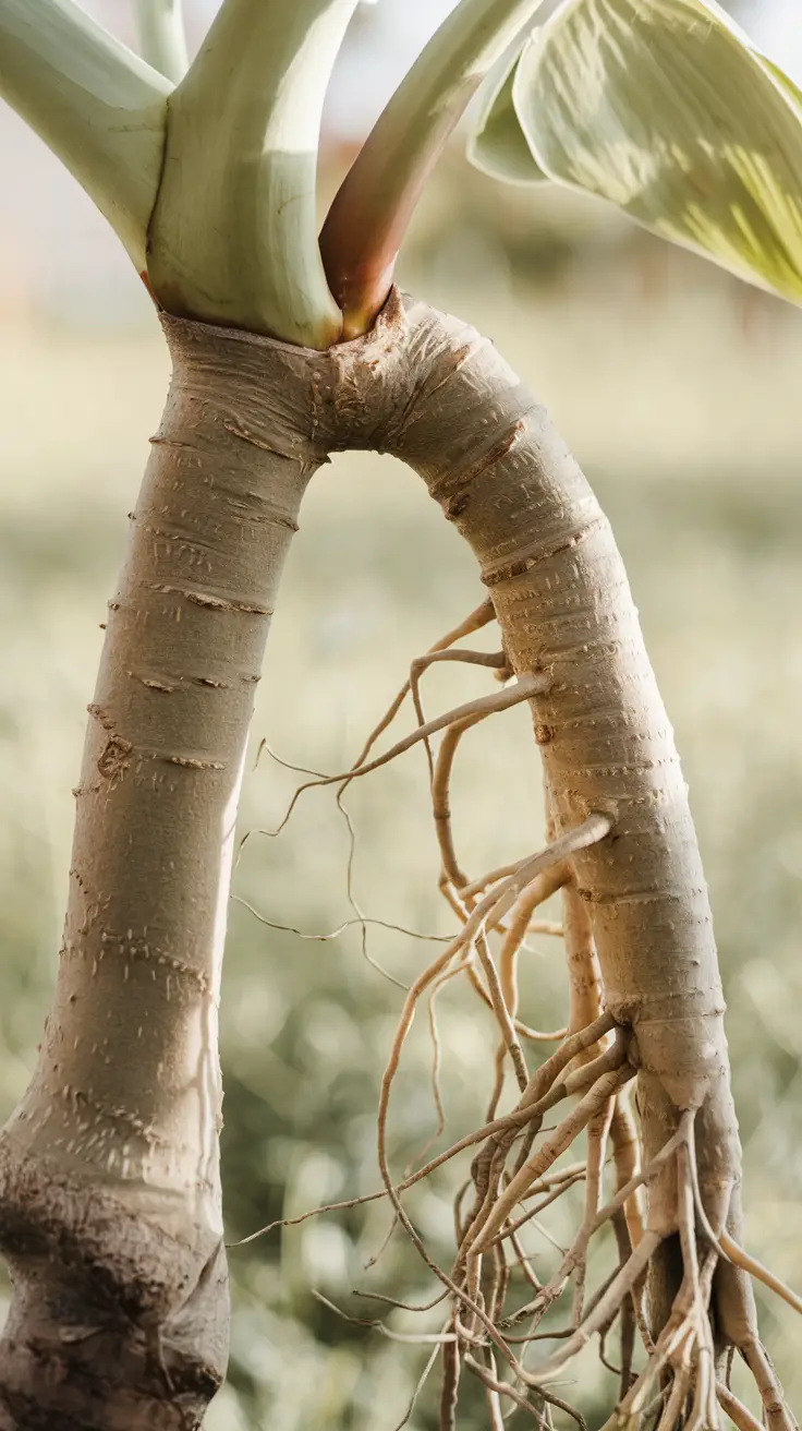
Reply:
[[[170,313],[340,335],[317,248],[323,99],[356,0],[224,0],[170,96],[147,273]]]

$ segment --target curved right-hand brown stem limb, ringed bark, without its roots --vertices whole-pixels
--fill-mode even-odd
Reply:
[[[605,1007],[636,1035],[645,1155],[678,1110],[700,1109],[699,1172],[721,1222],[739,1143],[711,909],[623,562],[576,462],[493,346],[422,309],[407,322],[426,375],[395,449],[473,547],[516,673],[552,677],[532,707],[558,831],[592,810],[613,820],[575,859]]]

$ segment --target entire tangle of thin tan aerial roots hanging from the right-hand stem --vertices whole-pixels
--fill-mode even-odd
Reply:
[[[683,1431],[713,1431],[719,1427],[719,1407],[738,1431],[755,1431],[759,1422],[732,1392],[729,1378],[725,1384],[718,1375],[716,1357],[722,1348],[713,1341],[713,1321],[721,1339],[722,1321],[718,1312],[723,1304],[721,1278],[713,1281],[716,1268],[722,1261],[732,1262],[739,1269],[736,1276],[749,1274],[761,1279],[798,1311],[802,1311],[802,1301],[752,1259],[735,1242],[731,1231],[711,1225],[696,1172],[693,1109],[678,1112],[673,1135],[666,1138],[663,1148],[645,1166],[639,1162],[639,1135],[629,1106],[635,1065],[639,1062],[636,1043],[632,1030],[616,1026],[615,1017],[603,1007],[589,910],[578,890],[572,863],[579,850],[609,834],[610,819],[593,813],[578,829],[555,837],[550,796],[546,791],[550,843],[545,850],[490,869],[479,877],[469,877],[459,861],[450,787],[462,738],[493,714],[545,694],[550,683],[546,673],[522,675],[512,683],[513,673],[505,651],[483,653],[455,647],[456,641],[490,620],[493,607],[490,601],[485,601],[466,622],[416,658],[409,680],[370,733],[355,766],[336,776],[310,771],[313,778],[296,790],[277,830],[262,831],[277,834],[305,790],[313,786],[337,786],[337,804],[349,820],[347,893],[356,914],[356,920],[346,922],[343,927],[362,924],[365,950],[367,924],[382,922],[369,922],[353,894],[353,827],[342,797],[353,780],[420,743],[429,763],[440,854],[439,887],[460,927],[405,990],[379,1099],[377,1153],[382,1189],[312,1209],[294,1219],[273,1222],[253,1236],[279,1225],[297,1225],[319,1212],[385,1198],[389,1201],[393,1224],[387,1239],[395,1228],[403,1229],[442,1291],[420,1307],[382,1298],[380,1294],[356,1295],[373,1295],[390,1307],[406,1305],[409,1311],[435,1308],[443,1299],[450,1304],[447,1321],[440,1324],[440,1329],[419,1337],[395,1332],[380,1318],[349,1318],[392,1339],[420,1342],[430,1348],[397,1431],[410,1420],[437,1358],[442,1371],[440,1431],[456,1431],[460,1382],[466,1374],[476,1378],[485,1390],[489,1431],[503,1431],[508,1415],[518,1410],[525,1411],[538,1427],[553,1431],[552,1408],[573,1417],[580,1431],[588,1431],[582,1415],[555,1394],[555,1378],[565,1374],[572,1358],[595,1338],[599,1338],[599,1355],[605,1367],[619,1378],[618,1405],[602,1431],[635,1431],[636,1427],[649,1427],[649,1431],[678,1431],[679,1427]],[[420,695],[422,677],[432,667],[447,661],[490,670],[506,684],[493,695],[467,701],[426,720]],[[376,741],[387,730],[407,694],[412,694],[417,727],[383,754],[372,757]],[[435,750],[432,737],[436,734],[442,738]],[[558,892],[562,892],[563,902],[562,923],[538,920],[540,906]],[[520,1017],[518,966],[533,930],[562,934],[565,940],[570,996],[568,1029],[539,1032]],[[497,1030],[486,1120],[482,1128],[416,1166],[445,1132],[436,1009],[440,992],[457,977],[470,982],[492,1013]],[[387,1153],[390,1096],[406,1039],[422,1002],[427,1010],[432,1039],[436,1128],[407,1162],[403,1179],[396,1183],[390,1175]],[[532,1045],[545,1040],[553,1040],[556,1047],[539,1068],[530,1070]],[[509,1070],[516,1085],[513,1103],[509,1112],[500,1112]],[[568,1112],[545,1128],[546,1116],[568,1100],[572,1100]],[[585,1156],[566,1163],[565,1155],[578,1139],[585,1143]],[[403,1195],[469,1149],[473,1153],[470,1176],[463,1181],[453,1211],[457,1251],[446,1271],[427,1251],[406,1211]],[[605,1191],[608,1169],[612,1172],[612,1196],[610,1189]],[[579,1189],[579,1185],[583,1208],[579,1209],[578,1231],[570,1239],[560,1238],[563,1245],[559,1245],[549,1226],[539,1219],[558,1199],[566,1198],[575,1203],[582,1195],[572,1189]],[[588,1289],[595,1238],[605,1228],[612,1228],[615,1234],[618,1265],[600,1285]],[[559,1252],[556,1266],[553,1254],[548,1254],[550,1264],[546,1272],[540,1262],[533,1262],[535,1252],[528,1239],[535,1234]],[[243,1241],[253,1241],[253,1236]],[[662,1328],[652,1329],[645,1308],[646,1279],[658,1254],[665,1255],[660,1249],[666,1238],[678,1244],[682,1278],[668,1321]],[[376,1256],[369,1265],[375,1261]],[[746,1276],[743,1282],[748,1286]],[[566,1294],[572,1298],[572,1309],[562,1321],[565,1324],[568,1319],[569,1325],[556,1327],[550,1312]],[[716,1298],[719,1301],[713,1307]],[[768,1431],[798,1431],[773,1367],[759,1342],[753,1308],[749,1309],[746,1296],[742,1301],[733,1325],[746,1327],[748,1335],[741,1337],[738,1349],[762,1398],[765,1425]],[[329,1302],[326,1305],[333,1307]],[[339,1308],[333,1309],[339,1312]],[[613,1329],[620,1337],[618,1367],[606,1357],[606,1341]],[[645,1361],[639,1362],[635,1361],[638,1337],[645,1349]],[[530,1357],[536,1358],[543,1342],[549,1342],[553,1349],[545,1361],[530,1365]]]

